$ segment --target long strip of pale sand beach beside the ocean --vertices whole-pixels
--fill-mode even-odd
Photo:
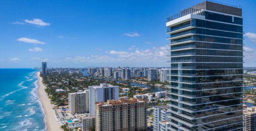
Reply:
[[[47,96],[47,93],[44,91],[46,86],[42,83],[42,78],[39,76],[40,72],[37,73],[38,81],[39,81],[39,87],[38,87],[38,95],[40,98],[40,101],[44,108],[44,113],[46,115],[46,125],[48,131],[62,131],[61,124],[57,121],[55,117],[55,113],[53,110],[53,107],[55,105],[50,103],[50,99]]]

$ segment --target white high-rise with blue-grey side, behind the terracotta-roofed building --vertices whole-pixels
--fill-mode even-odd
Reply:
[[[89,86],[90,89],[90,115],[95,116],[96,102],[119,100],[119,86],[101,83],[99,86]]]

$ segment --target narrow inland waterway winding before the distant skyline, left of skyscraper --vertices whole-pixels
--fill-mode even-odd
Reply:
[[[88,71],[82,71],[82,73],[84,74],[84,76],[91,76],[90,74],[88,74]],[[98,77],[98,76],[91,76],[91,77]],[[103,80],[116,80],[116,79],[111,79],[111,78],[102,78],[102,77],[98,77],[99,79],[103,79]],[[128,81],[123,81],[123,80],[116,80],[116,82],[118,83],[125,83],[127,85],[132,85],[132,86],[139,86],[139,87],[144,87],[144,88],[149,88],[152,92],[160,92],[160,91],[170,91],[171,89],[168,88],[162,88],[162,87],[157,87],[157,86],[151,86],[151,85],[144,85],[144,84],[139,84],[139,83],[134,83],[134,82],[128,82]]]

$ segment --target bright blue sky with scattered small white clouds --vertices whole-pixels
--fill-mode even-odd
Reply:
[[[202,0],[0,0],[0,68],[168,67],[166,18]],[[241,5],[256,67],[256,1]]]

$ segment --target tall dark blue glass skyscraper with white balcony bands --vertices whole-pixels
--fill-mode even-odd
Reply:
[[[239,6],[206,0],[167,18],[171,131],[242,131]]]

